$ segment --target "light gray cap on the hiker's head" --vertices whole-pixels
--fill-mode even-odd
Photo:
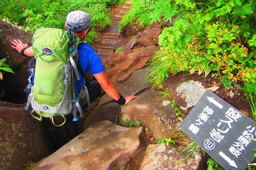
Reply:
[[[74,26],[75,31],[83,31],[91,28],[91,16],[83,11],[72,11],[67,16],[67,29],[72,29]]]

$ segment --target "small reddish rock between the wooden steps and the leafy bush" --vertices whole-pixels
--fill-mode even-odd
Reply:
[[[163,30],[163,25],[159,22],[154,22],[149,28],[139,32],[137,34],[138,41],[143,44],[145,47],[157,45],[158,36]]]

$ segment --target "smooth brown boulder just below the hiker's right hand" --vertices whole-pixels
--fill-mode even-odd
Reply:
[[[95,109],[84,123],[84,128],[102,120],[115,122],[116,116],[123,120],[141,121],[147,125],[156,139],[170,137],[180,123],[175,116],[170,99],[163,99],[157,91],[146,90],[127,106],[116,103],[106,104]],[[166,105],[167,103],[167,105]]]

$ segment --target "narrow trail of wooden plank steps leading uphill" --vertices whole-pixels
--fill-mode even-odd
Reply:
[[[119,47],[118,37],[120,36],[119,22],[122,20],[124,15],[130,10],[131,1],[127,0],[122,8],[119,10],[119,13],[112,18],[112,25],[108,32],[103,36],[103,40],[98,49],[98,55],[101,59],[108,57],[113,54],[114,50]]]

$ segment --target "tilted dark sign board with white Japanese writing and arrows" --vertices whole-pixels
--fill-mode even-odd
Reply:
[[[227,170],[246,169],[255,158],[256,123],[210,90],[180,128]]]

